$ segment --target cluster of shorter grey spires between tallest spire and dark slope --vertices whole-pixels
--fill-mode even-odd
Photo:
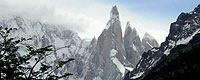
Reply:
[[[158,46],[156,39],[148,33],[145,33],[141,41],[136,29],[132,29],[130,23],[127,22],[124,34],[124,47],[126,51],[126,59],[131,62],[134,67],[145,51]]]

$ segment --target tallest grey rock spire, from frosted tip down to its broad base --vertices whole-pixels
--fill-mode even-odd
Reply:
[[[98,37],[96,49],[92,53],[94,56],[91,58],[94,64],[94,66],[91,66],[91,69],[94,68],[94,71],[90,70],[85,79],[92,80],[98,77],[102,80],[122,79],[122,76],[125,74],[124,66],[131,64],[126,60],[119,12],[116,6],[113,6],[110,20]]]

